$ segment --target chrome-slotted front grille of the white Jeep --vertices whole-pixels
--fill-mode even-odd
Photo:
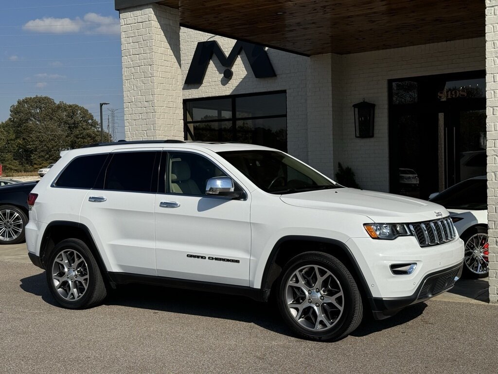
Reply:
[[[428,222],[410,223],[409,227],[421,247],[446,243],[457,236],[450,217]]]

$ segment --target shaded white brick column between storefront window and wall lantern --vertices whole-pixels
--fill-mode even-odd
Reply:
[[[332,140],[332,55],[309,58],[307,74],[308,163],[327,177],[334,176]]]

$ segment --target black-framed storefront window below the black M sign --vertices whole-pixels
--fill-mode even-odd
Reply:
[[[287,151],[285,92],[184,101],[185,139]]]

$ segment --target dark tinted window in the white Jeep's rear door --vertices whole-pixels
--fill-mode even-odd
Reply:
[[[115,153],[106,172],[104,189],[150,192],[157,152]],[[153,188],[155,192],[155,187]]]

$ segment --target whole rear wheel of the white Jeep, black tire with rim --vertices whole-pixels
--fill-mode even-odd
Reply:
[[[106,298],[101,271],[84,241],[61,241],[50,252],[46,264],[48,288],[62,307],[91,308]]]

